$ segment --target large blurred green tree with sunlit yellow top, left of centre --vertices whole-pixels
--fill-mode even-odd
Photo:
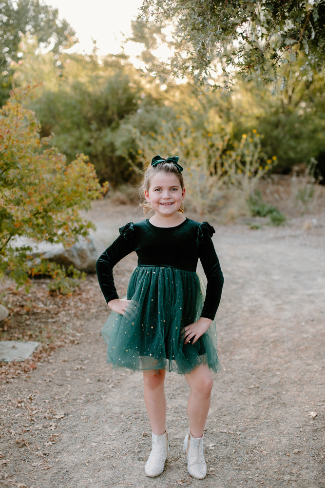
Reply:
[[[150,83],[144,86],[140,73],[125,57],[61,55],[62,76],[56,73],[53,53],[35,53],[28,45],[15,80],[23,85],[36,80],[44,82],[38,97],[30,104],[38,114],[41,136],[54,133],[53,142],[67,160],[84,153],[95,165],[100,182],[112,186],[134,178],[130,165],[136,149],[130,140],[117,138],[124,119],[141,113],[146,106],[154,116],[156,92]],[[151,83],[155,85],[155,82]],[[151,93],[153,92],[153,93]],[[138,112],[137,112],[138,111]]]

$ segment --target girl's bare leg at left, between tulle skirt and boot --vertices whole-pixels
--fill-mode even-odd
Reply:
[[[166,430],[165,374],[164,369],[143,371],[144,403],[151,429],[156,435],[162,435]]]

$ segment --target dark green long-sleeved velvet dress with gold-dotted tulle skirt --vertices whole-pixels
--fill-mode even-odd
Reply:
[[[156,227],[149,220],[129,223],[96,263],[106,302],[118,298],[113,267],[132,251],[138,255],[127,290],[124,315],[111,312],[102,335],[113,368],[166,369],[190,373],[201,364],[220,367],[214,316],[223,275],[211,236],[213,227],[186,219],[176,227]],[[200,259],[207,289],[196,273]],[[184,327],[207,317],[212,323],[194,344],[184,344]]]

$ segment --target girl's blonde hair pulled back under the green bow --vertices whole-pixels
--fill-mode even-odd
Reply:
[[[155,166],[152,166],[151,164],[148,164],[147,169],[145,170],[144,176],[141,180],[140,188],[139,188],[139,195],[140,195],[140,206],[143,207],[143,212],[146,215],[147,213],[151,212],[153,207],[151,206],[151,203],[147,202],[145,198],[145,191],[149,191],[150,188],[150,182],[153,178],[154,175],[158,173],[164,173],[165,175],[170,175],[173,174],[177,176],[178,181],[181,185],[182,190],[184,189],[184,180],[183,180],[183,175],[177,168],[177,166],[174,165],[174,163],[170,163],[169,161],[167,162],[165,158],[161,158],[164,161],[162,163],[158,163]],[[183,203],[177,210],[180,214],[184,213],[184,206]]]

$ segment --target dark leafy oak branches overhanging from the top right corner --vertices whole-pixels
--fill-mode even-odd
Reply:
[[[162,82],[190,75],[198,84],[229,88],[239,72],[273,82],[275,92],[298,57],[309,77],[325,65],[325,0],[144,0],[141,11],[139,19],[175,27],[170,64],[149,67]]]

